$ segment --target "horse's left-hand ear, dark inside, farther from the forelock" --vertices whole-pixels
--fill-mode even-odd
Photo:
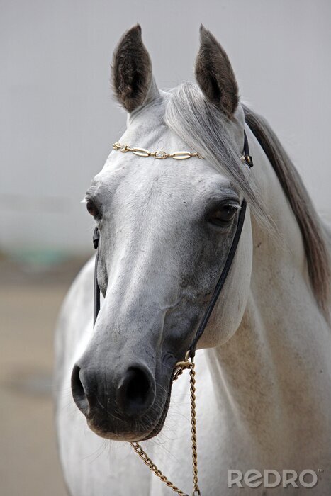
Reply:
[[[116,97],[128,112],[159,95],[139,24],[124,33],[113,53],[112,79]]]

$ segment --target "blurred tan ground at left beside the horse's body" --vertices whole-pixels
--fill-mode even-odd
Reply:
[[[83,259],[0,259],[0,495],[65,496],[52,404],[57,312]]]

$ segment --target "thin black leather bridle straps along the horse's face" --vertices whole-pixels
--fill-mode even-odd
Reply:
[[[242,154],[242,158],[244,159],[245,164],[247,164],[249,167],[253,167],[253,161],[252,157],[249,155],[249,145],[248,145],[248,140],[247,140],[247,135],[244,131],[244,152]],[[235,258],[235,252],[237,251],[237,247],[239,244],[240,240],[240,235],[242,233],[242,226],[244,225],[245,221],[245,213],[246,213],[246,201],[245,198],[242,200],[242,204],[240,206],[240,212],[238,215],[238,220],[237,220],[237,228],[235,230],[235,236],[232,239],[232,244],[230,247],[230,250],[228,252],[228,257],[225,260],[225,265],[223,267],[223,271],[220,274],[220,277],[218,278],[218,282],[215,286],[215,289],[213,291],[213,295],[211,296],[211,300],[208,303],[208,306],[205,310],[205,313],[203,315],[203,318],[200,322],[200,325],[198,327],[198,330],[196,331],[196,336],[193,339],[193,342],[189,348],[189,356],[191,358],[194,357],[196,354],[196,345],[198,344],[198,340],[201,338],[204,330],[206,329],[206,326],[208,324],[208,320],[211,317],[211,312],[213,312],[213,308],[215,307],[215,303],[218,300],[218,297],[220,295],[220,291],[222,291],[222,288],[224,286],[224,283],[226,281],[226,278],[229,274],[232,261]],[[93,244],[94,248],[97,250],[96,252],[96,261],[95,261],[95,268],[94,268],[94,323],[96,323],[96,317],[98,317],[99,310],[100,310],[100,288],[98,284],[98,277],[97,277],[97,267],[98,267],[98,259],[99,259],[99,239],[100,239],[100,232],[98,227],[95,228],[94,230],[94,235],[93,235]]]

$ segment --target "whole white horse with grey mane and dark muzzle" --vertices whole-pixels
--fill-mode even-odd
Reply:
[[[191,492],[189,376],[171,393],[172,371],[208,305],[245,198],[237,253],[196,354],[201,494],[330,495],[327,234],[203,27],[196,79],[159,91],[140,26],[114,54],[114,89],[128,111],[120,143],[203,159],[113,150],[86,193],[101,233],[104,299],[93,329],[91,260],[56,335],[67,487],[74,496],[173,494],[127,442],[152,438],[142,442],[152,460]],[[244,129],[252,169],[240,160]]]

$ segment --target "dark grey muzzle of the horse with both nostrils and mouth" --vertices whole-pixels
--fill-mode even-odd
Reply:
[[[106,439],[137,441],[157,434],[165,418],[160,405],[169,402],[167,395],[156,401],[156,389],[155,377],[143,363],[130,363],[117,373],[77,363],[72,371],[74,402],[91,430]]]

